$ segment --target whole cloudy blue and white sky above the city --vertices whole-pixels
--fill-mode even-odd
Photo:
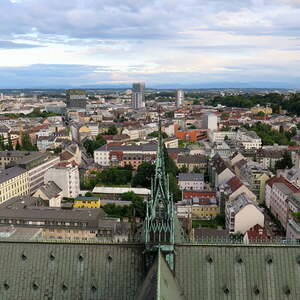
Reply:
[[[0,87],[300,88],[300,0],[0,0]]]

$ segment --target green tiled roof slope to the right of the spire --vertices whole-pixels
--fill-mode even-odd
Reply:
[[[175,274],[187,300],[300,299],[300,248],[177,245]]]

